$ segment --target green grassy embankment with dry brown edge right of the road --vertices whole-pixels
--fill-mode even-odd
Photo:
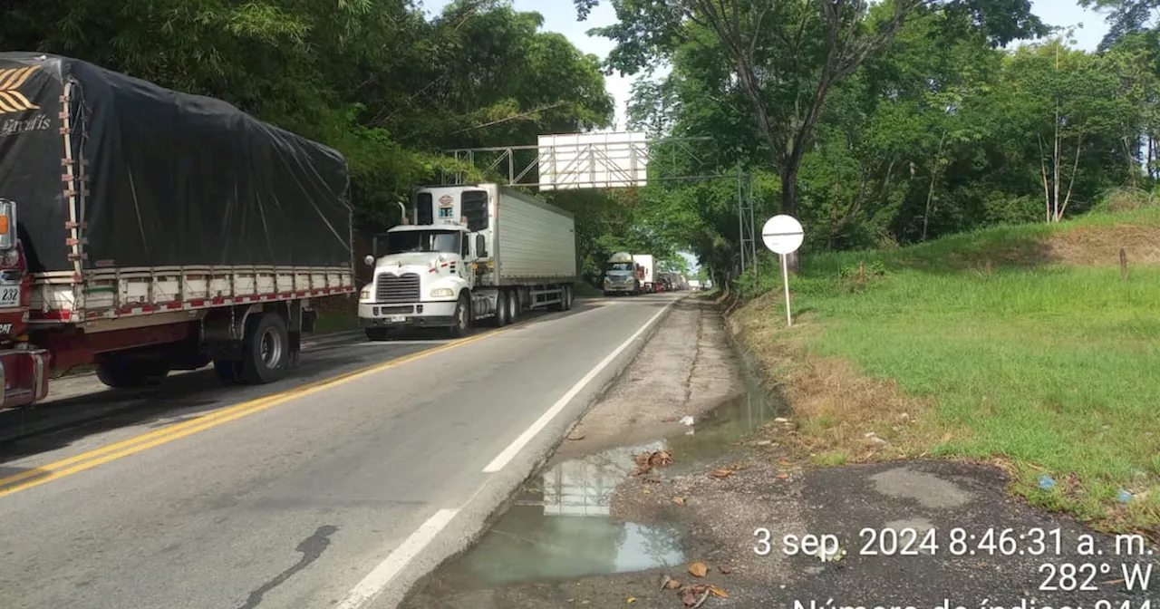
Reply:
[[[1160,527],[1160,210],[807,255],[792,328],[763,281],[732,319],[814,463],[980,459],[1032,503]]]

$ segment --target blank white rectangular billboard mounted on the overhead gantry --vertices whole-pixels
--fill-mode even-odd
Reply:
[[[539,189],[645,186],[648,136],[643,131],[539,136]]]

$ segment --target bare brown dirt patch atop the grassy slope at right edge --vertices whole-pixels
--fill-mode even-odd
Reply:
[[[1128,264],[1160,263],[1160,227],[1117,224],[1079,226],[1058,232],[1047,240],[1051,258],[1066,264],[1119,264],[1124,251]]]

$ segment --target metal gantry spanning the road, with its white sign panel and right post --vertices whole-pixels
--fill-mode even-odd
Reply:
[[[638,188],[653,182],[737,180],[737,213],[741,274],[756,276],[756,226],[754,223],[753,175],[740,166],[735,172],[688,174],[682,168],[706,165],[702,158],[711,150],[710,137],[646,138],[643,133],[575,133],[545,136],[538,145],[490,146],[447,151],[461,165],[483,171],[507,186],[539,190]],[[575,138],[577,143],[556,144],[545,138]],[[587,142],[581,142],[587,139]],[[651,171],[650,171],[651,169]],[[549,180],[544,180],[543,176]],[[464,183],[462,171],[443,171],[442,184]]]

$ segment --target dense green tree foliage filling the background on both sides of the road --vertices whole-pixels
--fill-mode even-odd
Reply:
[[[590,278],[622,249],[670,268],[689,249],[735,276],[738,167],[759,224],[795,213],[807,251],[1057,222],[1160,177],[1157,0],[1083,0],[1111,24],[1097,52],[1058,31],[1003,50],[1047,34],[1028,0],[607,1],[604,66],[502,0],[434,17],[412,0],[9,0],[0,49],[220,97],[329,144],[367,231],[393,224],[413,186],[465,169],[441,151],[607,126],[602,67],[643,73],[633,125],[712,137],[674,166],[726,177],[552,194],[577,215]]]

